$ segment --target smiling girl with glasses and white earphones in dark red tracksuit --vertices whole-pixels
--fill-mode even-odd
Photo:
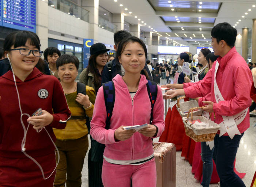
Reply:
[[[4,51],[12,70],[0,77],[0,186],[53,186],[53,128],[64,129],[71,115],[63,89],[35,68],[43,53],[35,33],[9,34]]]

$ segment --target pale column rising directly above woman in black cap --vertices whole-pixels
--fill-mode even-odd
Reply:
[[[94,43],[98,42],[98,23],[99,23],[99,0],[83,0],[83,6],[89,11],[90,38]]]

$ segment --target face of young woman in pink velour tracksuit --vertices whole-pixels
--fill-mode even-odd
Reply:
[[[118,59],[123,65],[125,73],[140,74],[146,63],[145,51],[138,42],[127,43]]]

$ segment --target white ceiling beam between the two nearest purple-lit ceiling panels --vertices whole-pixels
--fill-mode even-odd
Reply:
[[[190,18],[217,18],[217,13],[200,13],[200,12],[172,12],[172,11],[156,11],[157,16],[169,16],[169,17],[190,17]]]

